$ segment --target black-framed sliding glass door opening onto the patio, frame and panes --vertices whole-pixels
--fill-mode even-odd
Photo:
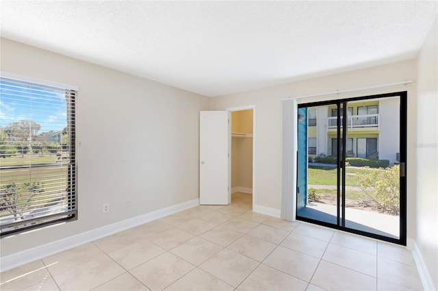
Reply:
[[[298,105],[298,220],[406,244],[406,102]]]

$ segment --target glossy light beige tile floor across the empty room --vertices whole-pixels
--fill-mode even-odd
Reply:
[[[201,205],[0,274],[1,290],[422,290],[411,251]]]

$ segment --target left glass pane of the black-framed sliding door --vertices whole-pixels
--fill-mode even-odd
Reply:
[[[309,113],[308,118],[304,118],[305,112]],[[337,167],[331,142],[337,141],[337,121],[331,116],[333,112],[337,112],[333,105],[298,109],[297,214],[336,225]],[[313,116],[318,116],[316,126],[310,123]]]

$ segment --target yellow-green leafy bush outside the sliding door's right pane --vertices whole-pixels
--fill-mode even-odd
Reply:
[[[364,167],[356,174],[359,187],[382,213],[400,214],[400,166],[391,168]]]

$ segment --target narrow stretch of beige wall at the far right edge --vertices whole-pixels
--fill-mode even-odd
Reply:
[[[418,249],[438,290],[438,29],[437,19],[418,55],[417,223]]]

